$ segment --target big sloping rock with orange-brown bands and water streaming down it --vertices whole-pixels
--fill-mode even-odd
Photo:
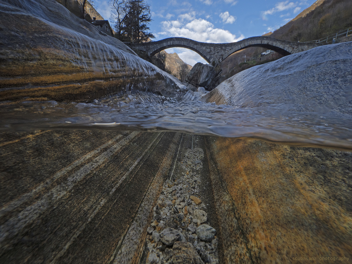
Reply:
[[[174,77],[54,0],[0,5],[1,101],[85,102],[123,89],[178,88]]]

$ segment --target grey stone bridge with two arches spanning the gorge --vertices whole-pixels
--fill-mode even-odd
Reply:
[[[281,55],[290,55],[320,46],[317,43],[300,43],[279,40],[272,37],[251,37],[232,43],[205,43],[188,38],[165,38],[158,41],[130,44],[130,47],[138,54],[146,53],[154,56],[158,52],[168,48],[187,48],[197,52],[210,64],[219,64],[236,51],[249,47],[263,47],[274,50]]]

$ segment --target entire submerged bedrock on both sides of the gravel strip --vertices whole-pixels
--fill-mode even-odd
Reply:
[[[200,149],[197,170],[187,153]],[[193,166],[219,263],[351,257],[351,152],[175,132],[38,130],[1,132],[0,155],[0,263],[145,263],[164,181]]]

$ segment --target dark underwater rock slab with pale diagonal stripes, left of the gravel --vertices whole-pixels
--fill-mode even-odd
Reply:
[[[139,260],[180,136],[1,133],[0,263]]]

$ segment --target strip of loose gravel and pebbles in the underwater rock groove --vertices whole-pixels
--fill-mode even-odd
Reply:
[[[199,196],[203,157],[201,148],[186,150],[179,164],[183,172],[164,182],[147,229],[147,264],[219,263],[216,230]]]

